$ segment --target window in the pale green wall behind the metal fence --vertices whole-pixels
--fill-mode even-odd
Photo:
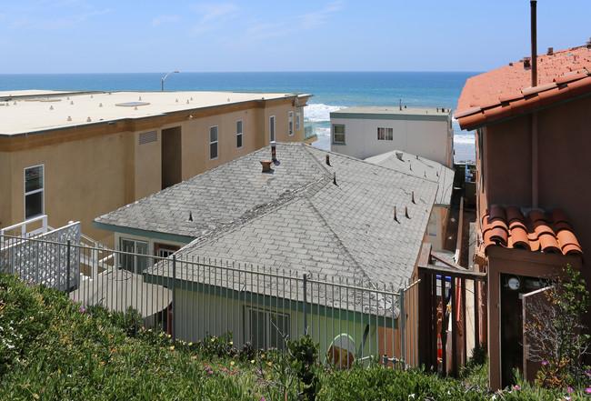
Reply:
[[[254,348],[285,349],[284,338],[290,337],[289,314],[246,306],[245,315],[245,338]]]

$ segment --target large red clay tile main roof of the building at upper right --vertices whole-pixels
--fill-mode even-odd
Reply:
[[[469,78],[454,117],[474,129],[569,97],[591,95],[591,49],[574,47],[537,56],[537,86],[523,61]]]

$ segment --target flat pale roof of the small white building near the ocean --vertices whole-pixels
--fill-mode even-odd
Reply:
[[[447,119],[452,112],[445,107],[407,107],[406,105],[356,105],[330,113],[331,118],[404,119],[407,116],[429,116]]]

